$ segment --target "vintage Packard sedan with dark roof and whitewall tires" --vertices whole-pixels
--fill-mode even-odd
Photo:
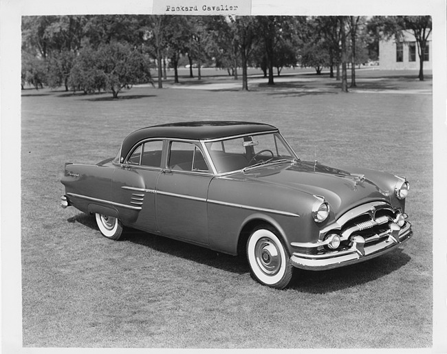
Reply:
[[[65,164],[61,205],[123,226],[246,254],[259,283],[282,289],[295,268],[366,261],[410,238],[404,177],[301,161],[279,130],[183,122],[134,131],[118,155]]]

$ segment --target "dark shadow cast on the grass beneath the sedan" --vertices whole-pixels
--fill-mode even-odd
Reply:
[[[78,214],[75,217],[70,217],[67,221],[69,223],[81,223],[99,233],[95,218],[91,215]],[[135,243],[157,252],[195,261],[234,274],[242,275],[250,272],[245,255],[230,256],[140,230],[124,228],[124,235],[118,242]],[[340,289],[349,289],[395,272],[410,260],[410,256],[405,254],[402,249],[397,248],[377,258],[347,267],[320,272],[295,269],[294,278],[292,278],[288,289],[310,294],[325,294]]]

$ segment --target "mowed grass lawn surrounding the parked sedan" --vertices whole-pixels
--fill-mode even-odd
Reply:
[[[311,76],[250,92],[134,87],[119,100],[23,91],[23,345],[430,347],[432,96],[400,90],[429,89],[416,74],[360,71],[349,94]],[[59,206],[65,162],[99,162],[135,129],[188,120],[268,122],[302,159],[406,176],[413,239],[365,263],[298,272],[279,291],[252,280],[241,258],[137,231],[109,241],[94,217]]]

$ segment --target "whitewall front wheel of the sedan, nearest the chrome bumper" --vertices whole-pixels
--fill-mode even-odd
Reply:
[[[289,285],[294,267],[274,228],[264,225],[254,230],[247,241],[247,258],[259,283],[276,289]]]

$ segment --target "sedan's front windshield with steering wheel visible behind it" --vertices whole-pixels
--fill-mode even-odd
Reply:
[[[217,173],[229,173],[298,159],[279,133],[248,135],[205,143]]]

